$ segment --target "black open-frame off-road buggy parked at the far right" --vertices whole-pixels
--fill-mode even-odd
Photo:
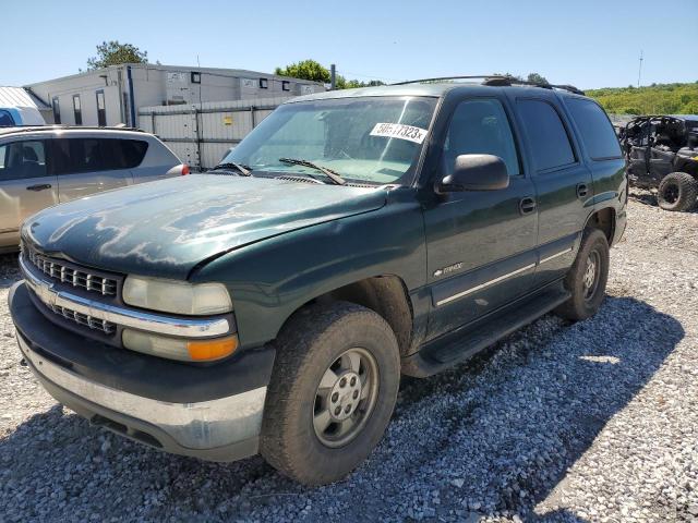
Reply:
[[[690,210],[698,200],[698,115],[633,119],[621,132],[630,183],[657,190],[666,210]]]

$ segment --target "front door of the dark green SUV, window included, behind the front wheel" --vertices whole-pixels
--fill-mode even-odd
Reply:
[[[497,98],[464,99],[444,142],[440,177],[459,155],[504,160],[509,186],[449,193],[424,210],[429,338],[483,316],[531,289],[538,212],[533,183],[521,168],[512,125]]]

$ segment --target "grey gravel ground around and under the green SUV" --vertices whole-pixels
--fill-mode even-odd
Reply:
[[[261,458],[167,455],[88,426],[19,364],[0,258],[2,521],[698,522],[698,214],[636,194],[601,312],[549,315],[404,379],[371,459],[309,489]]]

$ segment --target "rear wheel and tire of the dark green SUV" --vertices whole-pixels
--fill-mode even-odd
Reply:
[[[571,296],[555,313],[573,321],[597,314],[605,295],[609,264],[606,235],[599,229],[587,229],[577,258],[565,277],[565,288]]]

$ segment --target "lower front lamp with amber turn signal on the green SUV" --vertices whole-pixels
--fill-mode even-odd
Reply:
[[[238,348],[238,336],[212,340],[183,340],[123,329],[123,346],[132,351],[182,362],[212,362],[229,356]]]

